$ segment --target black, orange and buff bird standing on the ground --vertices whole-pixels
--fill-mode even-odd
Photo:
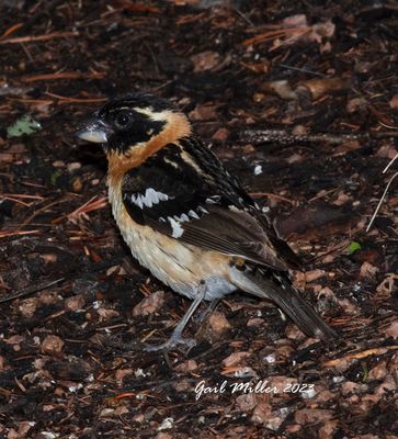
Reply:
[[[147,350],[195,346],[183,330],[196,308],[236,291],[273,302],[309,337],[337,337],[292,282],[298,256],[177,105],[126,93],[76,135],[103,147],[113,216],[134,258],[192,300],[171,337]]]

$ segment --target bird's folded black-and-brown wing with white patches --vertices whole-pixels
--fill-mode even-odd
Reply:
[[[123,202],[132,218],[186,244],[287,270],[278,244],[285,252],[289,247],[258,218],[261,212],[236,179],[198,140],[184,142],[125,175]]]

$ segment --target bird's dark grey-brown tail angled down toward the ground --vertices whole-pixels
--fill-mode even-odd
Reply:
[[[308,305],[292,284],[287,273],[257,268],[236,271],[232,282],[241,290],[274,302],[308,337],[330,341],[337,333]]]

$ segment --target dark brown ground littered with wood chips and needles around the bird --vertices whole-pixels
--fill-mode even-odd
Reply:
[[[0,437],[398,438],[397,180],[366,230],[397,171],[398,3],[2,0],[0,16]],[[269,209],[336,344],[235,294],[190,323],[191,351],[143,350],[189,301],[132,259],[104,156],[73,137],[137,90],[179,104]]]

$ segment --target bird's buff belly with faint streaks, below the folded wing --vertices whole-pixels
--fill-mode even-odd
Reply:
[[[175,292],[194,299],[201,282],[206,285],[206,301],[236,291],[229,282],[229,257],[181,244],[148,226],[135,223],[121,199],[110,193],[113,216],[133,256],[156,278]]]

